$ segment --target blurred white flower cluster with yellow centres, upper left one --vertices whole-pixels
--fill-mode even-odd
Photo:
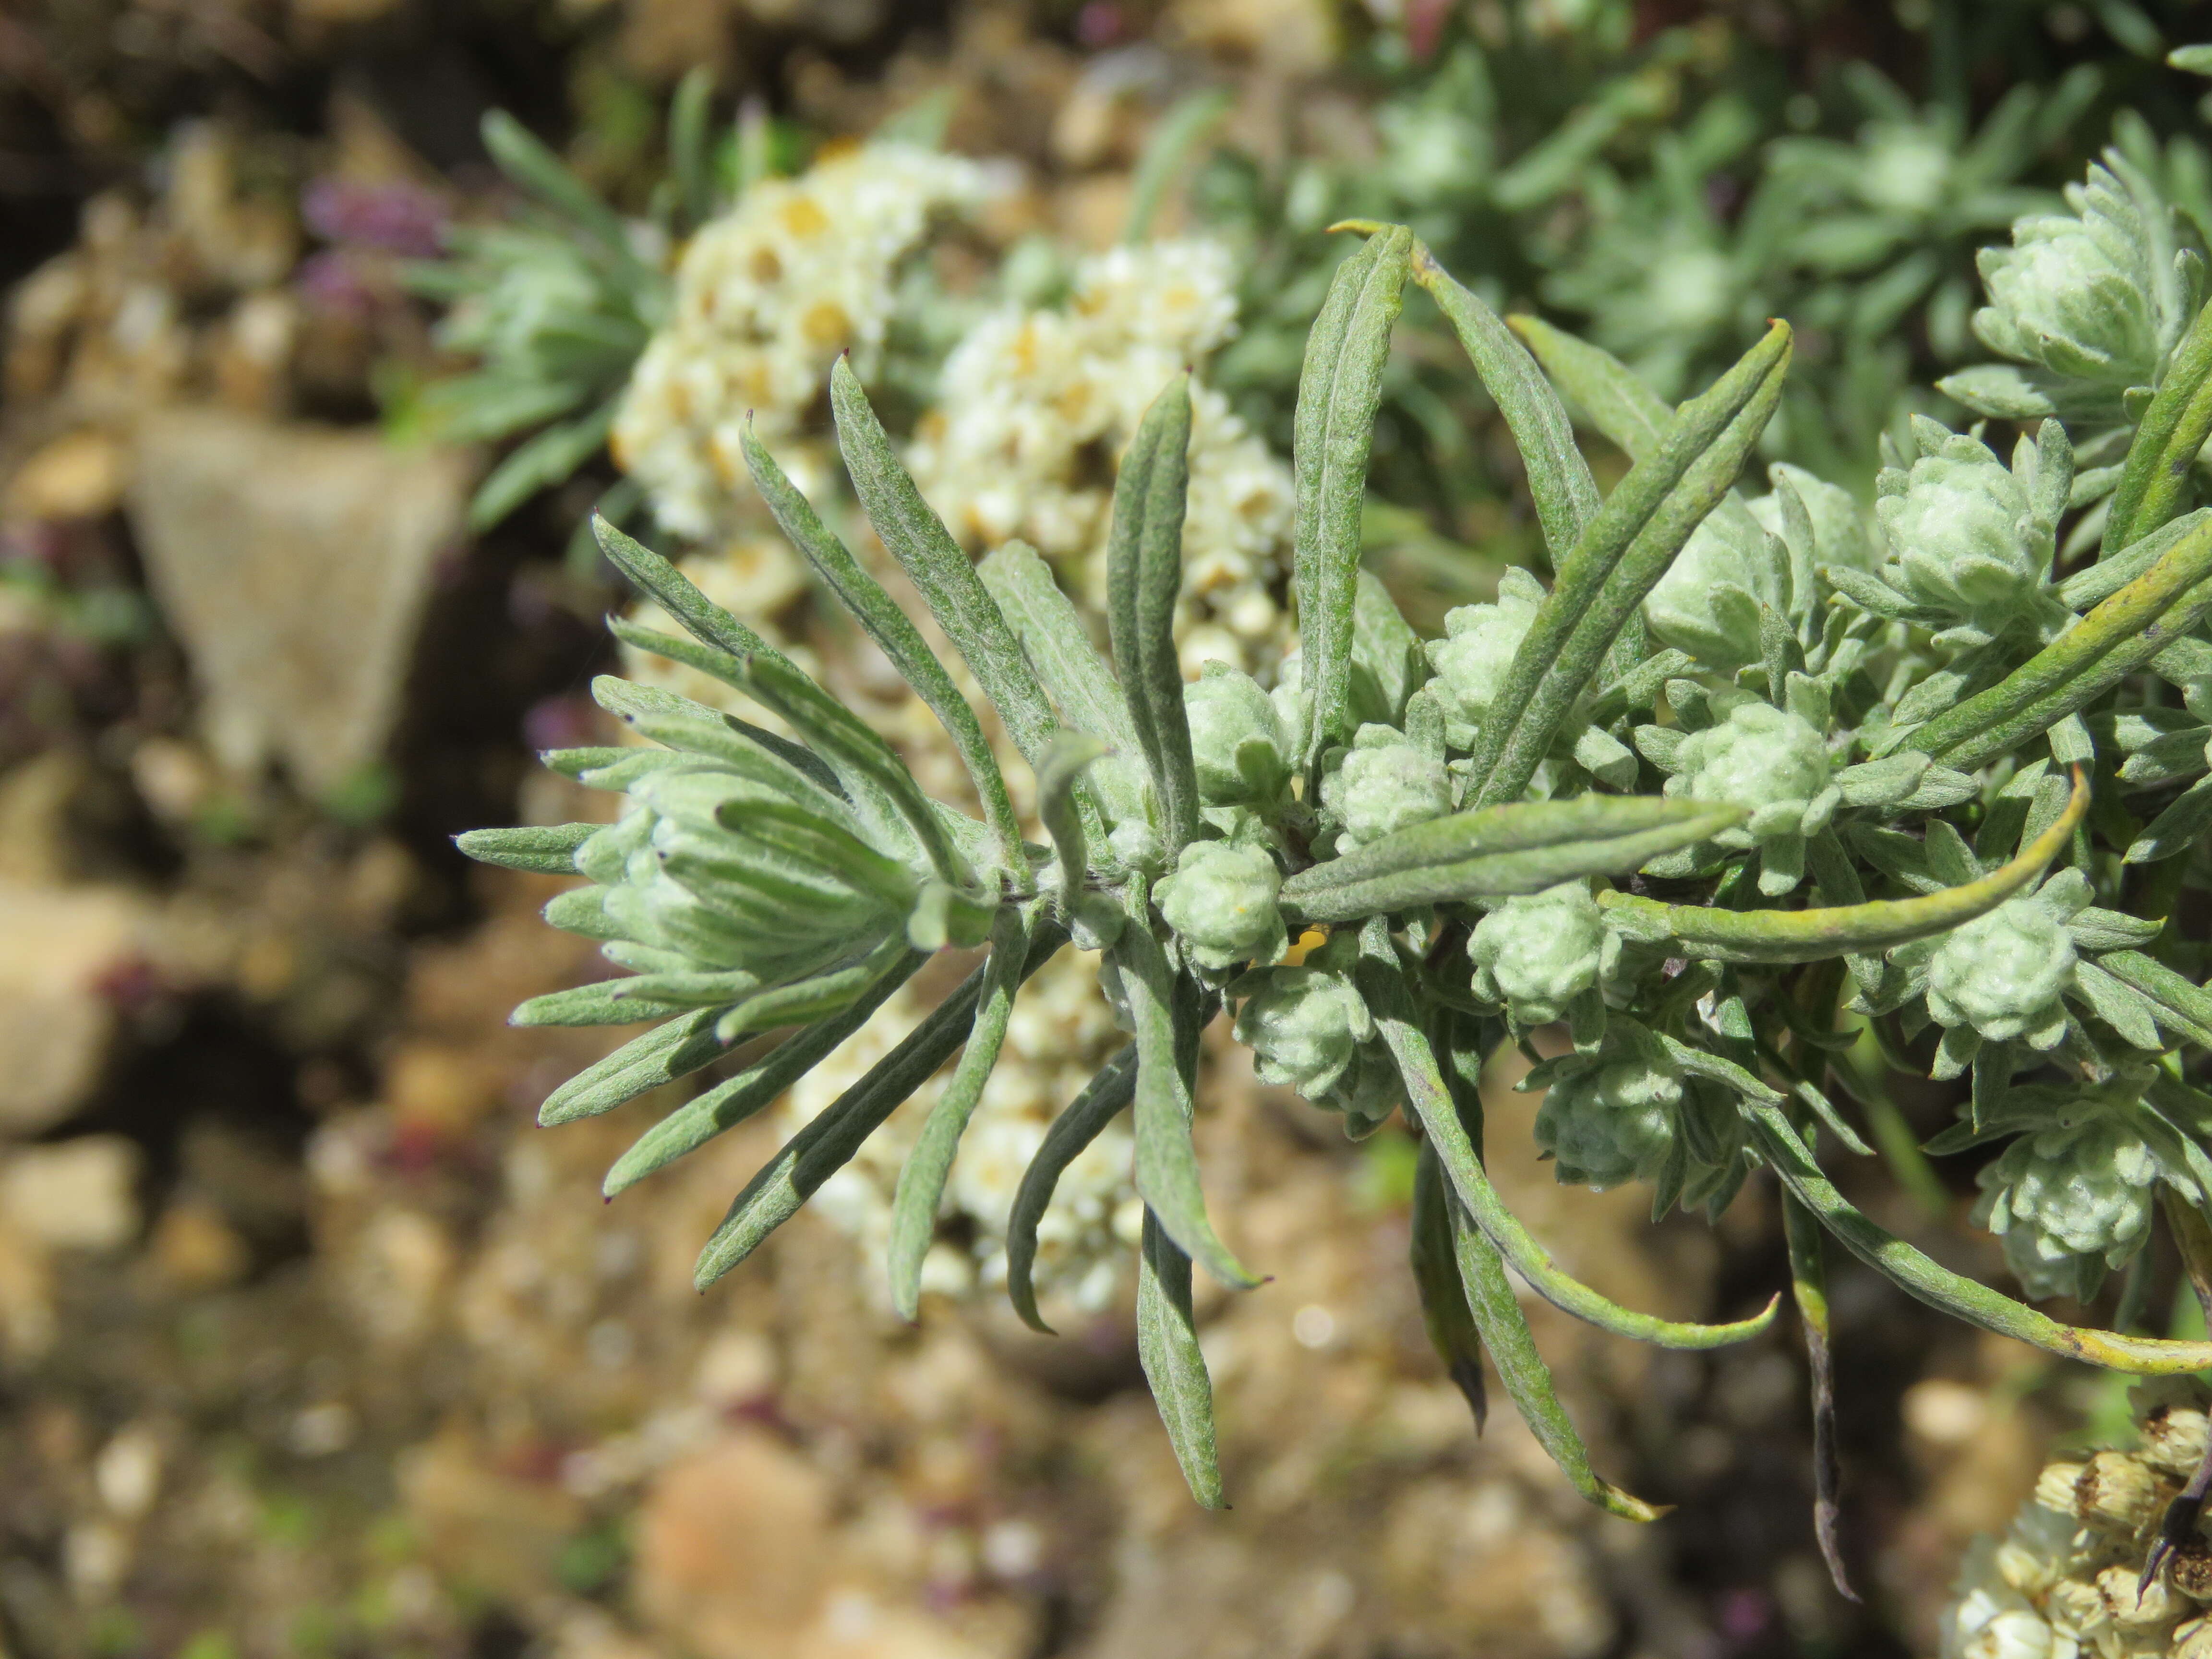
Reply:
[[[752,489],[745,418],[765,442],[785,438],[841,352],[865,380],[898,263],[931,217],[973,212],[991,192],[975,161],[869,144],[796,179],[763,179],[690,239],[668,323],[637,361],[611,438],[664,529],[706,540],[728,524],[730,502]]]

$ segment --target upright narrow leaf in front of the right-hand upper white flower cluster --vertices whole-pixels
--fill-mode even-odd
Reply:
[[[1183,670],[1175,655],[1188,495],[1190,376],[1179,374],[1152,398],[1121,456],[1106,540],[1106,626],[1168,852],[1199,836],[1199,774],[1190,761]]]

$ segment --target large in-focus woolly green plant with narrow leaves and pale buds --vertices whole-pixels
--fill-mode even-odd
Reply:
[[[2013,467],[1980,438],[1916,429],[1920,453],[1871,513],[1794,469],[1745,500],[1739,476],[1790,372],[1785,323],[1668,407],[1606,352],[1502,323],[1407,228],[1352,228],[1367,241],[1305,347],[1301,637],[1272,690],[1237,668],[1181,672],[1186,376],[1161,374],[1119,460],[1108,661],[1037,553],[1011,542],[969,560],[852,369],[832,369],[854,493],[1031,768],[1037,827],[1018,818],[951,666],[757,436],[741,442],[754,487],[942,721],[980,816],[925,794],[843,703],[602,526],[608,557],[690,637],[615,630],[719,677],[792,737],[604,679],[602,706],[639,743],[549,763],[619,792],[617,821],[465,836],[491,863],[586,876],[549,920],[633,971],[524,1004],[520,1022],[653,1022],[542,1119],[608,1110],[787,1033],[650,1128],[608,1175],[622,1192],[821,1066],[929,953],[984,951],[737,1194],[699,1259],[701,1285],[743,1261],[958,1055],[931,1084],[885,1228],[891,1296],[914,1316],[1022,984],[1062,949],[1095,951],[1130,1042],[1037,1144],[1004,1221],[1004,1279],[1042,1325],[1040,1217],[1126,1110],[1139,1352],[1206,1504],[1221,1502],[1221,1471],[1192,1263],[1259,1283],[1214,1225],[1192,1141],[1199,1035],[1217,1018],[1265,1082],[1343,1113],[1349,1133],[1398,1115],[1418,1135],[1411,1267],[1449,1371],[1480,1411],[1486,1352],[1568,1480],[1613,1513],[1657,1511],[1590,1469],[1506,1270],[1601,1329],[1692,1349],[1763,1332],[1778,1296],[1734,1323],[1659,1321],[1564,1274],[1504,1208],[1475,1084],[1553,1022],[1524,1086],[1546,1091],[1537,1141],[1564,1181],[1646,1181],[1655,1214],[1719,1214],[1752,1177],[1778,1186],[1820,1444],[1825,1241],[2055,1354],[2146,1374],[2212,1365],[2208,1343],[2066,1325],[1940,1265],[1823,1166],[1823,1141],[1869,1152],[1854,1099],[1882,1097],[1838,1060],[1871,1044],[1966,1079],[1938,1146],[1993,1148],[1978,1217],[2031,1296],[2090,1294],[2161,1210],[2194,1248],[2212,1197],[2199,1086],[2212,993],[2166,918],[2203,880],[2212,818],[2194,781],[2212,741],[2212,518],[2190,511],[2188,478],[2146,480],[2212,429],[2212,361],[2168,374],[2117,462],[2128,515],[2068,560],[2079,507],[2057,418]],[[1511,575],[1433,641],[1360,571],[1409,279],[1520,445],[1553,573]],[[1562,394],[1632,460],[1608,493]],[[1705,608],[1655,606],[1692,549]],[[1836,1564],[1827,1462],[1820,1484]]]

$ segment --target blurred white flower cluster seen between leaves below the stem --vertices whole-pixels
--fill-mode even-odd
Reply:
[[[1099,993],[1097,956],[1062,951],[1022,989],[1006,1046],[984,1084],[960,1159],[945,1188],[947,1214],[973,1223],[971,1243],[940,1239],[922,1263],[922,1290],[971,1296],[1006,1283],[1006,1219],[1029,1159],[1071,1099],[1126,1042]],[[905,991],[885,1002],[852,1040],[783,1097],[781,1128],[796,1133],[858,1082],[905,1037],[927,1009]],[[929,1110],[945,1093],[947,1068],[891,1115],[860,1155],[823,1181],[814,1206],[860,1241],[876,1261],[891,1237],[898,1168],[914,1150]],[[1060,1177],[1037,1223],[1040,1298],[1077,1312],[1106,1307],[1137,1243],[1144,1206],[1130,1181],[1130,1130],[1121,1115]],[[883,1283],[880,1272],[867,1274]]]

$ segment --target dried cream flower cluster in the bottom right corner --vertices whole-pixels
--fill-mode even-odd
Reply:
[[[2205,1391],[2139,1383],[2137,1451],[2044,1469],[2002,1540],[1966,1551],[1942,1617],[1942,1659],[2208,1659],[2212,1540],[2185,1540],[2137,1593],[2166,1504],[2205,1451]]]

